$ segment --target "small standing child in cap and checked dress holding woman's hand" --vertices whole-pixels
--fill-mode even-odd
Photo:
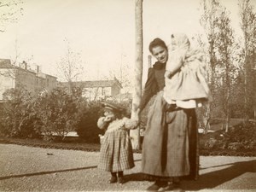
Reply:
[[[136,120],[124,117],[124,109],[103,102],[104,117],[97,126],[106,129],[100,152],[98,168],[111,172],[109,183],[125,183],[123,172],[134,167],[131,140],[128,130],[135,129]]]

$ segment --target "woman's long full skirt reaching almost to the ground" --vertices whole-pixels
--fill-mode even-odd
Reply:
[[[155,97],[143,140],[142,172],[156,177],[198,176],[195,109],[170,108]]]

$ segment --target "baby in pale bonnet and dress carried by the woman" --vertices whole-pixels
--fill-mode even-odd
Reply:
[[[201,107],[210,100],[205,55],[199,49],[192,49],[183,33],[172,34],[171,44],[163,97],[181,108]]]

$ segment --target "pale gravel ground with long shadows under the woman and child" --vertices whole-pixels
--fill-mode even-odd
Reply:
[[[0,144],[1,191],[138,191],[151,182],[136,167],[125,172],[126,183],[108,183],[109,173],[96,168],[98,152],[32,148]],[[201,156],[201,176],[183,181],[185,191],[256,191],[256,157]]]

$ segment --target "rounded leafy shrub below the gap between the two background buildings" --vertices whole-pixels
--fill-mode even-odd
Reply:
[[[66,90],[55,89],[49,94],[38,96],[34,105],[38,121],[36,127],[43,133],[45,140],[52,140],[54,134],[61,140],[78,125],[79,103],[83,102],[81,92],[67,94]]]

